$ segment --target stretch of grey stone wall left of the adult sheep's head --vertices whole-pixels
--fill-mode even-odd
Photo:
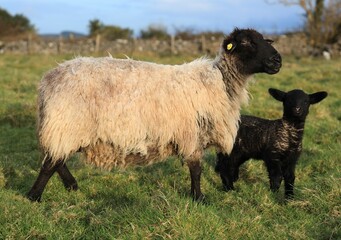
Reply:
[[[181,39],[169,40],[142,40],[142,39],[118,39],[115,41],[100,41],[99,43],[90,38],[75,40],[21,40],[13,42],[0,41],[0,53],[43,53],[43,54],[91,54],[123,53],[126,55],[132,52],[157,52],[161,54],[199,54],[202,52],[215,52],[219,49],[219,40],[193,40],[184,41]]]

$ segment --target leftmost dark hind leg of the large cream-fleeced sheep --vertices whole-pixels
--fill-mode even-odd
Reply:
[[[56,164],[52,165],[51,157],[46,158],[43,166],[40,169],[37,180],[27,194],[27,198],[31,201],[39,202],[47,182],[62,164],[63,162],[59,161]]]

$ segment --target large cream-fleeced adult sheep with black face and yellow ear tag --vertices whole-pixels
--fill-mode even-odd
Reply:
[[[161,65],[81,57],[50,70],[38,91],[45,158],[28,198],[40,201],[56,171],[66,189],[77,190],[66,161],[82,151],[87,162],[108,170],[180,156],[189,167],[191,195],[201,201],[204,150],[232,150],[248,80],[281,68],[271,43],[253,29],[236,28],[213,60]]]

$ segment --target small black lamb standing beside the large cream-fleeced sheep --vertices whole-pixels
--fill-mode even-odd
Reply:
[[[285,197],[294,196],[295,166],[302,151],[306,117],[311,104],[327,97],[327,92],[306,94],[302,90],[283,92],[270,88],[269,93],[283,102],[283,117],[267,120],[241,115],[236,141],[230,154],[217,154],[216,171],[220,173],[224,189],[233,190],[239,167],[250,158],[265,162],[270,189],[278,191],[284,178]]]

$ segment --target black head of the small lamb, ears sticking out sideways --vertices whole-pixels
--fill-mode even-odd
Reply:
[[[304,121],[310,105],[322,101],[328,95],[327,92],[306,94],[298,89],[283,92],[273,88],[269,89],[269,93],[276,100],[283,102],[283,117],[293,121]]]

